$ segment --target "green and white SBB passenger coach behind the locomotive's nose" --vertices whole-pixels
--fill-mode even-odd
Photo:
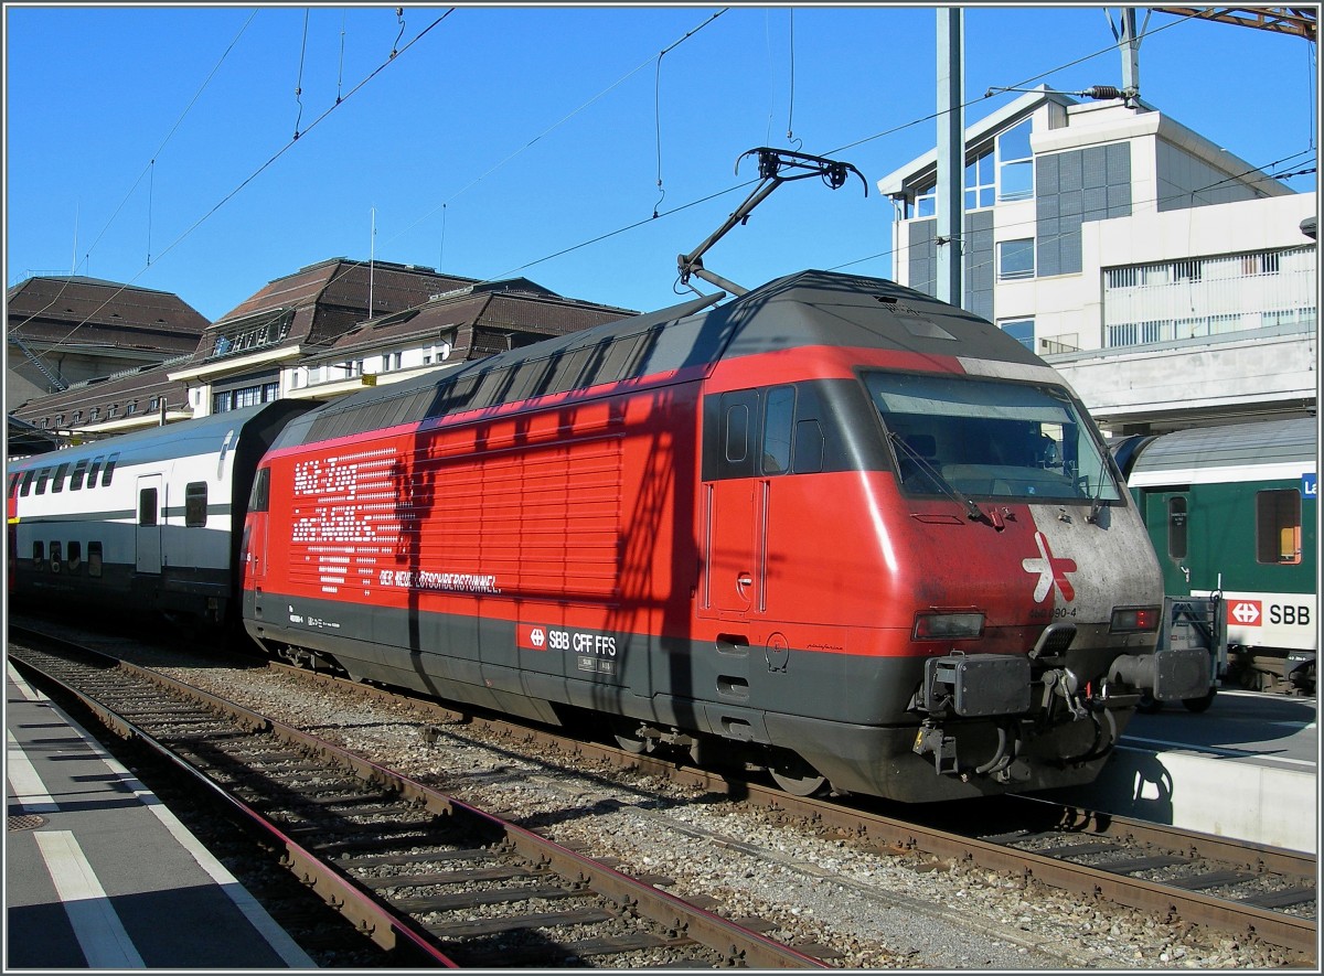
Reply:
[[[1197,427],[1113,448],[1166,594],[1221,592],[1233,685],[1315,689],[1317,423]]]

